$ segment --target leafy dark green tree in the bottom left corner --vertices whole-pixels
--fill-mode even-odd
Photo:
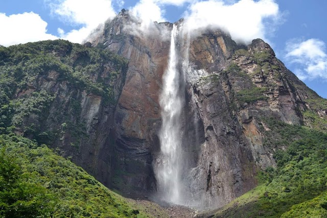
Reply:
[[[0,217],[50,217],[54,198],[41,184],[31,182],[23,174],[18,159],[0,152]]]

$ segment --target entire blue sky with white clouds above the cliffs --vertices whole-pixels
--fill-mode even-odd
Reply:
[[[263,38],[273,47],[277,58],[327,98],[325,0],[0,0],[0,3],[0,44],[5,46],[55,38],[81,42],[92,29],[122,8],[131,9],[144,22],[174,22],[189,17],[196,26],[207,23],[225,28],[237,41],[248,43],[252,38]]]

